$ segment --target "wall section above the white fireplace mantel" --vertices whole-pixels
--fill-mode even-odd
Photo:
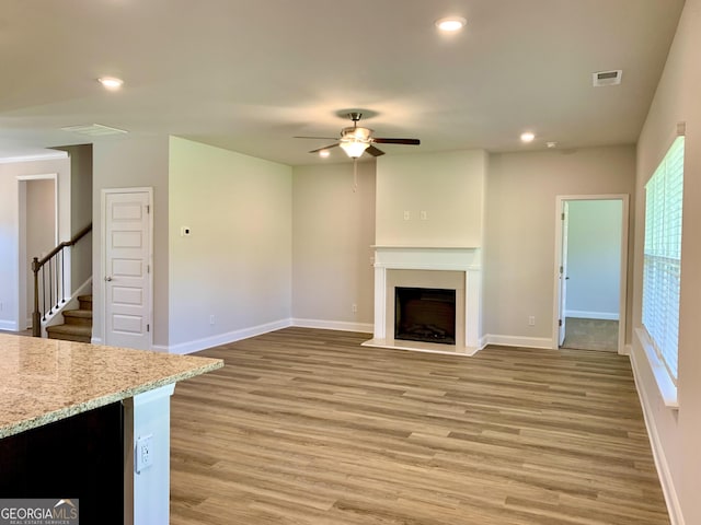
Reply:
[[[482,246],[486,166],[482,150],[379,158],[376,243]]]

